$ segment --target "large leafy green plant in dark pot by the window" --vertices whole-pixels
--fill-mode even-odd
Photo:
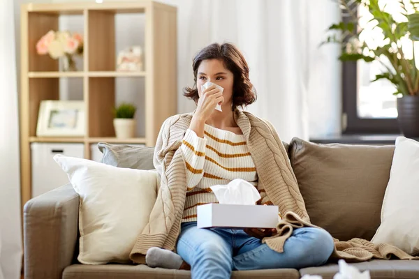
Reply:
[[[385,12],[379,0],[339,0],[342,20],[332,24],[323,43],[341,45],[341,61],[378,61],[383,66],[376,80],[386,79],[395,86],[399,128],[406,137],[419,137],[419,71],[415,63],[413,42],[419,40],[418,3],[412,0],[394,0],[397,3],[398,20]],[[393,3],[394,4],[394,3]],[[380,42],[362,40],[362,29],[357,17],[358,6],[372,14],[369,24],[381,33]],[[335,31],[339,31],[336,33]],[[407,56],[406,48],[413,54]]]

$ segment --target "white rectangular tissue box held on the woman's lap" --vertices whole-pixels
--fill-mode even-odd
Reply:
[[[197,207],[198,228],[277,227],[278,206],[241,204],[204,204]]]

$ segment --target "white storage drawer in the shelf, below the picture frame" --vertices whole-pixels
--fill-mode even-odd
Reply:
[[[46,193],[68,183],[67,174],[54,161],[56,154],[84,157],[84,144],[38,143],[31,144],[32,197]]]

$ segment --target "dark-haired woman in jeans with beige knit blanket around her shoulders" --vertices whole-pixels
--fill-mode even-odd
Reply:
[[[258,189],[261,196],[258,204],[277,204],[282,213],[293,211],[309,219],[304,202],[298,198],[297,181],[276,131],[267,121],[238,109],[256,100],[249,67],[240,51],[228,43],[209,45],[193,59],[193,74],[195,84],[184,89],[184,96],[195,100],[196,110],[166,120],[154,158],[162,185],[172,189],[169,198],[173,206],[167,208],[172,210],[177,204],[183,204],[179,217],[182,225],[179,233],[176,220],[172,227],[167,227],[170,222],[165,223],[167,239],[173,235],[172,240],[164,239],[155,245],[158,247],[147,249],[147,264],[172,269],[187,269],[190,265],[192,278],[230,278],[232,270],[300,269],[324,264],[334,249],[332,236],[324,229],[294,229],[283,247],[274,250],[279,246],[262,240],[275,234],[275,229],[196,227],[196,207],[217,202],[210,186],[228,184],[237,178],[249,181]],[[221,86],[223,92],[214,85],[202,90],[206,82]],[[222,111],[215,110],[217,104]],[[175,172],[173,165],[181,167]],[[174,189],[179,188],[186,188],[184,199],[174,197],[178,191]],[[162,190],[159,195],[165,192]],[[150,223],[159,214],[152,213]],[[176,234],[179,234],[177,254],[170,251]],[[153,235],[156,239],[160,234]]]

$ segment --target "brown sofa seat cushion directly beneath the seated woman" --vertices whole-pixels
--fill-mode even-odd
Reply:
[[[190,271],[182,271],[176,269],[152,269],[149,266],[140,264],[122,265],[122,264],[106,264],[88,266],[83,264],[73,264],[67,266],[63,272],[63,279],[131,279],[131,278],[147,278],[147,279],[168,279],[168,278],[191,278]],[[266,269],[255,271],[233,271],[231,278],[275,278],[275,279],[299,279],[300,273],[297,269]]]

